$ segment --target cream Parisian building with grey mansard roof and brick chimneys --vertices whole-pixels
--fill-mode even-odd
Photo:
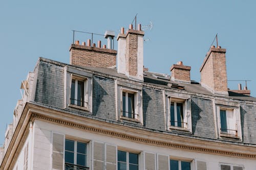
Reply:
[[[256,169],[256,98],[227,88],[226,50],[212,46],[201,82],[143,66],[143,35],[71,44],[70,64],[39,58],[20,88],[0,169]],[[117,63],[117,64],[116,64]]]

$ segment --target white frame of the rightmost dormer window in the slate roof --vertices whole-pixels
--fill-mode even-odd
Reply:
[[[225,110],[226,116],[226,130],[227,132],[222,131],[221,127],[221,110]],[[233,119],[233,126],[230,125],[230,114],[232,115]],[[230,137],[230,138],[237,138],[242,140],[242,130],[241,130],[241,118],[240,118],[240,109],[239,107],[233,106],[223,106],[217,105],[217,124],[218,124],[218,132],[220,137]]]

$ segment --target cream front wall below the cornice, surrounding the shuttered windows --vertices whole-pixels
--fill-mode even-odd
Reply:
[[[106,142],[109,144],[117,145],[117,147],[124,147],[127,149],[146,151],[151,153],[158,153],[163,155],[169,155],[170,157],[179,157],[182,159],[193,160],[191,164],[191,170],[195,169],[195,160],[206,161],[208,169],[216,170],[219,168],[219,163],[231,163],[237,165],[244,165],[245,170],[256,169],[256,161],[249,159],[231,158],[227,156],[218,156],[211,154],[202,154],[195,152],[188,152],[175,149],[166,149],[156,147],[152,145],[140,144],[132,141],[125,141],[122,139],[116,139],[113,137],[98,135],[89,133],[86,131],[80,131],[72,128],[62,127],[55,124],[41,122],[35,120],[34,122],[34,160],[33,169],[50,169],[51,162],[51,131],[60,132],[76,138],[82,138],[85,140],[95,140]],[[88,148],[89,150],[89,148]],[[141,154],[142,155],[142,154]],[[141,166],[140,166],[141,167]]]

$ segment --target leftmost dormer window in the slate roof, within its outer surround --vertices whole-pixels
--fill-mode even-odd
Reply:
[[[70,104],[80,107],[87,107],[87,98],[87,79],[79,79],[72,76],[70,89]]]

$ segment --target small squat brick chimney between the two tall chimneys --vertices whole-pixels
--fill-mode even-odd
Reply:
[[[170,71],[172,72],[171,80],[190,83],[190,69],[191,67],[183,65],[182,61],[172,65],[170,67]]]

